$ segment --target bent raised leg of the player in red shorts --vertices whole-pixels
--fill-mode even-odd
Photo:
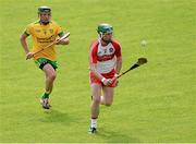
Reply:
[[[103,96],[101,96],[101,104],[111,106],[113,101],[114,87],[102,87]]]

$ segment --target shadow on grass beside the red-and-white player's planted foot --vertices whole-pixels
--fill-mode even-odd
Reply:
[[[96,133],[96,136],[106,140],[108,143],[139,143],[138,139],[131,136],[131,133],[124,133],[117,131],[106,131],[105,129],[100,128]]]

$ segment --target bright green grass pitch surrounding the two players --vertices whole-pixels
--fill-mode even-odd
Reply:
[[[71,32],[70,45],[57,47],[49,111],[39,106],[44,73],[20,44],[39,5]],[[195,0],[0,0],[0,142],[196,142],[195,8]],[[120,80],[89,135],[88,47],[102,22],[122,45],[123,71],[139,57],[149,62]]]

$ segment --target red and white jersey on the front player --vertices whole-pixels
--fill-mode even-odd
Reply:
[[[118,57],[121,57],[121,46],[117,40],[102,46],[100,39],[97,39],[90,45],[89,62],[96,63],[96,70],[101,74],[114,70]]]

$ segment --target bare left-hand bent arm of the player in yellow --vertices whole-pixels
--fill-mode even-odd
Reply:
[[[22,35],[21,35],[21,37],[20,37],[20,40],[21,40],[21,45],[22,45],[22,47],[23,47],[23,49],[24,49],[24,51],[25,51],[25,55],[26,55],[26,59],[30,59],[30,58],[33,58],[33,52],[30,52],[29,51],[29,49],[28,49],[28,45],[27,45],[27,43],[26,43],[26,38],[28,37],[28,34],[26,34],[26,33],[23,33]]]

